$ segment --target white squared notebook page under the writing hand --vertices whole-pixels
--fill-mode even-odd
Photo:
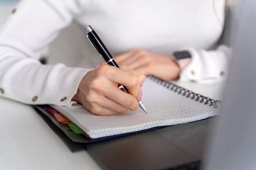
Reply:
[[[142,101],[148,113],[138,108],[120,115],[99,116],[93,115],[85,108],[52,107],[79,126],[91,138],[197,121],[217,115],[219,112],[218,108],[187,98],[148,77],[143,85]]]

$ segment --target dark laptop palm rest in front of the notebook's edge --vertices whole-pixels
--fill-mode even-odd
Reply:
[[[202,159],[215,118],[99,141],[87,152],[105,170],[165,170]]]

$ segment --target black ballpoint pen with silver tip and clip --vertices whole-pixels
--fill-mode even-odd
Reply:
[[[106,63],[119,68],[114,58],[112,57],[106,46],[103,44],[97,33],[95,33],[95,31],[92,29],[92,27],[88,25],[85,27],[85,30],[87,33],[87,38],[90,40],[92,46],[94,46],[94,48],[98,51],[99,55],[101,55]],[[128,89],[126,88],[126,86],[124,86],[124,89],[128,93]],[[147,113],[147,110],[141,101],[139,102],[139,107]]]

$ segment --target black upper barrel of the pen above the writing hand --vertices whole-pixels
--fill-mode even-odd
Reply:
[[[94,30],[92,30],[90,33],[87,34],[87,38],[90,40],[94,48],[98,51],[98,53],[103,57],[103,59],[108,62],[110,59],[112,59],[112,55],[106,48],[106,46],[103,44],[97,33],[95,33]],[[116,64],[116,63],[115,63]],[[111,64],[110,64],[111,65]],[[117,65],[117,64],[116,64]]]

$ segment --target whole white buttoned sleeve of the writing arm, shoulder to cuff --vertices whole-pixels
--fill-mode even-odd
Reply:
[[[26,104],[72,103],[88,70],[63,64],[42,65],[38,59],[80,9],[76,0],[18,3],[0,26],[0,96]]]

